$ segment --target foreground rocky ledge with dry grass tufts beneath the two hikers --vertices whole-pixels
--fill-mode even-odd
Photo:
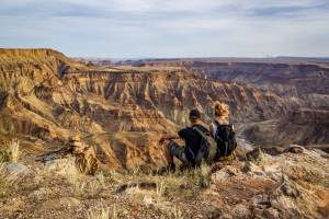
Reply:
[[[287,151],[162,176],[86,176],[70,159],[42,165],[25,157],[24,164],[0,163],[0,218],[327,218],[328,159]]]

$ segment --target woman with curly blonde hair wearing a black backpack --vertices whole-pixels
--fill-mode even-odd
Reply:
[[[229,123],[229,107],[225,103],[214,104],[214,119],[209,125],[209,131],[217,142],[215,161],[234,160],[234,151],[237,148],[235,130]]]

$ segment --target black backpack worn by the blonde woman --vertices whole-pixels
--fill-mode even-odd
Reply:
[[[215,141],[217,142],[216,158],[228,157],[237,148],[236,134],[232,128],[232,124],[220,125],[215,120],[217,130],[215,134]]]

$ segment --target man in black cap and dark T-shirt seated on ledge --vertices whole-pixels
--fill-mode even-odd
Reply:
[[[189,168],[197,168],[200,161],[196,159],[201,145],[202,135],[209,135],[207,128],[202,125],[201,113],[197,110],[190,112],[191,126],[179,130],[175,135],[163,136],[160,143],[164,143],[164,155],[168,161],[169,171],[174,171],[173,157],[178,158],[183,165]],[[201,135],[202,132],[202,135]],[[181,147],[173,139],[183,139],[185,146]],[[167,142],[166,142],[167,141]]]

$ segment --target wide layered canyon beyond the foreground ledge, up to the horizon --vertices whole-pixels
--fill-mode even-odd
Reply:
[[[191,108],[209,122],[222,101],[251,145],[327,145],[328,88],[326,64],[97,66],[52,49],[0,49],[0,140],[38,153],[78,135],[109,169],[158,168],[161,135],[186,126]]]

